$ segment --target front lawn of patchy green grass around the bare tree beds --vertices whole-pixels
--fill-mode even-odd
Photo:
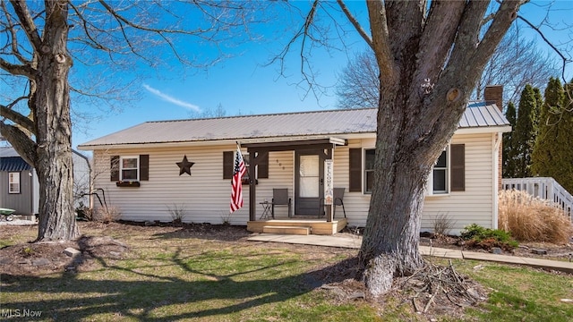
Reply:
[[[355,250],[309,253],[272,243],[113,233],[130,245],[123,258],[96,258],[78,273],[2,275],[0,310],[41,311],[34,321],[428,320],[397,299],[340,301],[317,287],[312,272]],[[26,235],[20,242],[30,240]],[[474,270],[478,264],[483,269]],[[573,320],[573,305],[560,302],[573,298],[570,275],[464,260],[454,265],[494,290],[479,308],[466,309],[462,320]],[[448,313],[433,318],[456,320]]]

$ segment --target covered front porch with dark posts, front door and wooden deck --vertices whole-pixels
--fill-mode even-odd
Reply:
[[[345,146],[346,140],[338,138],[312,140],[282,140],[249,142],[243,144],[250,158],[249,165],[249,221],[247,230],[253,233],[289,233],[330,235],[346,226],[346,216],[337,209],[334,218],[333,205],[333,155],[337,146]],[[270,152],[293,151],[294,171],[289,184],[267,185],[257,177],[257,165],[269,162]],[[276,160],[276,162],[279,162]],[[257,191],[272,191],[283,188],[288,191],[288,211],[280,216],[266,216],[272,199],[259,200]],[[276,201],[276,200],[275,200]],[[264,210],[266,204],[267,208]],[[284,206],[284,204],[282,204]],[[263,206],[263,207],[261,207]],[[292,209],[291,209],[292,208]],[[258,214],[257,210],[262,211]]]

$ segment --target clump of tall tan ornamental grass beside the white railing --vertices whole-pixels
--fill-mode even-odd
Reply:
[[[500,191],[498,225],[520,242],[568,243],[573,226],[555,203],[525,191]]]

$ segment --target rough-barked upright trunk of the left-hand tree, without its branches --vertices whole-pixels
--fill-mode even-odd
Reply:
[[[67,3],[46,2],[47,21],[38,52],[36,93],[36,171],[39,180],[38,241],[79,236],[73,210],[72,122],[67,53]]]

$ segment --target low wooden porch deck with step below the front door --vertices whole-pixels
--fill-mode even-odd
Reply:
[[[334,219],[327,222],[325,218],[276,218],[267,220],[257,220],[247,222],[247,231],[252,233],[265,233],[265,227],[268,230],[282,229],[284,233],[289,234],[320,234],[332,235],[340,232],[346,227],[346,218]],[[274,227],[274,228],[273,228]],[[306,229],[301,229],[306,228]],[[308,232],[308,233],[305,233]]]

